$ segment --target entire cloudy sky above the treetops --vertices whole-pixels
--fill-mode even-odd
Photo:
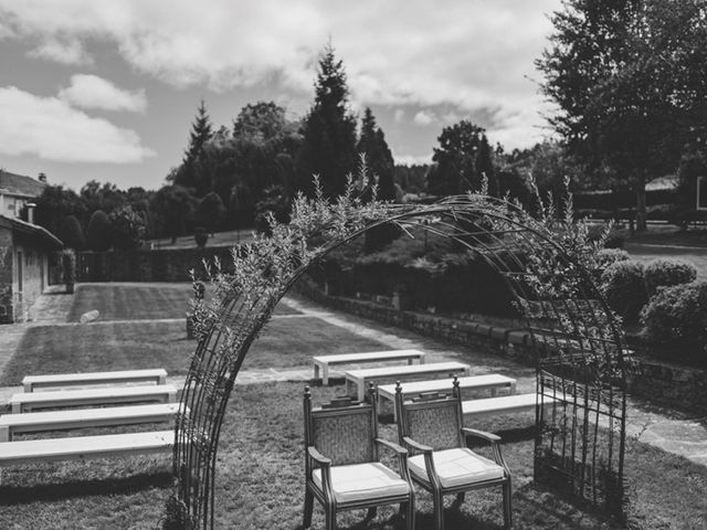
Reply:
[[[560,0],[0,0],[0,168],[78,190],[157,189],[201,98],[217,128],[247,103],[292,117],[320,51],[344,60],[395,160],[429,161],[443,127],[492,141],[548,135],[532,61]]]

